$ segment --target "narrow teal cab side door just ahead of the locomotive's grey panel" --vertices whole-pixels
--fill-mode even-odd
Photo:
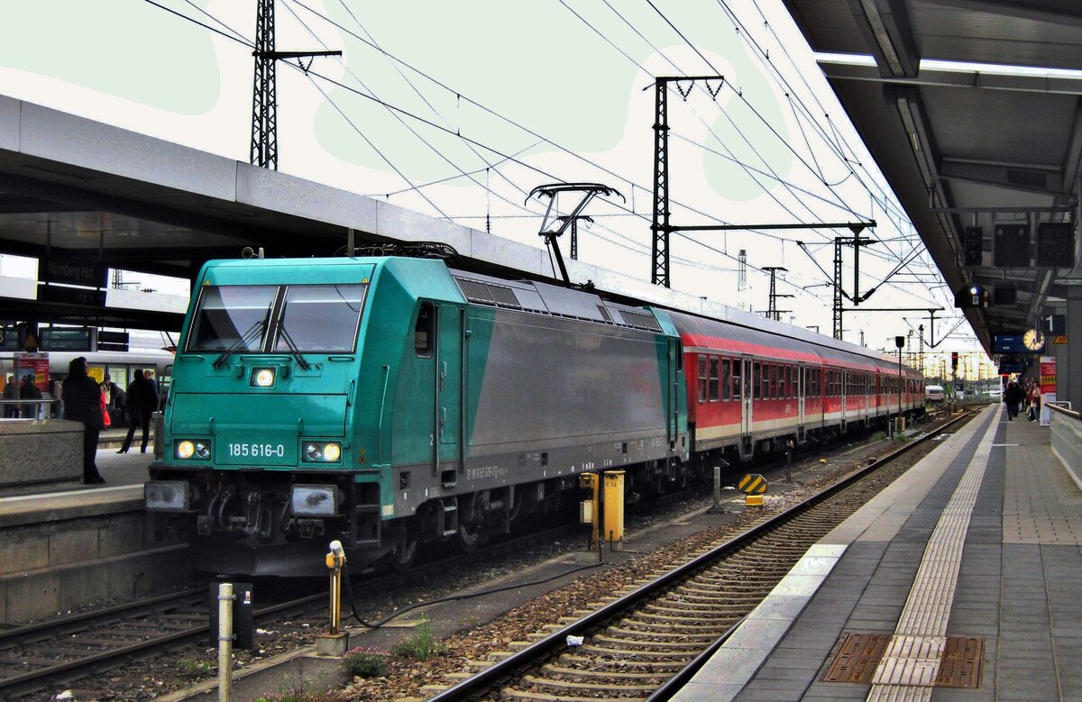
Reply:
[[[462,381],[464,372],[463,314],[450,304],[436,306],[435,426],[433,468],[440,481],[453,485],[462,467]]]

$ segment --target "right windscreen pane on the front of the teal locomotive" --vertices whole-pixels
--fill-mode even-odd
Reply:
[[[353,353],[357,345],[364,284],[289,286],[274,349]],[[287,339],[288,336],[288,339]]]

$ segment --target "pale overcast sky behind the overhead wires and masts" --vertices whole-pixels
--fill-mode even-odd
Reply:
[[[4,3],[0,93],[247,161],[254,0],[156,2],[221,34],[145,0]],[[780,0],[278,0],[276,8],[278,50],[344,51],[342,59],[316,58],[309,75],[279,63],[283,172],[536,247],[544,203],[524,206],[529,190],[603,183],[626,201],[590,206],[594,224],[580,229],[579,257],[648,280],[655,77],[720,74],[724,82],[669,93],[672,224],[873,218],[876,243],[861,252],[860,290],[880,287],[866,305],[945,307],[937,321],[955,317]],[[852,233],[673,235],[672,287],[765,310],[768,278],[760,269],[784,266],[778,292],[794,296],[778,307],[830,334],[831,289],[820,267],[832,270],[835,236]],[[852,292],[852,249],[843,255]],[[921,322],[920,313],[905,314],[908,323],[899,313],[848,314],[845,337],[859,342],[863,332],[868,346],[893,349],[894,335]],[[937,323],[937,336],[950,326]],[[967,324],[959,332],[966,340],[949,346],[977,348]]]

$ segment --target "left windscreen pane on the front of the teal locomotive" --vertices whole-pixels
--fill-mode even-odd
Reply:
[[[187,350],[261,350],[277,292],[277,286],[203,287]]]

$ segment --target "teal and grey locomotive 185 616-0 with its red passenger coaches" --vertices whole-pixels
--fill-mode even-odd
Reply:
[[[405,568],[577,501],[582,473],[624,471],[633,503],[924,407],[920,373],[860,346],[440,259],[211,261],[196,283],[145,506],[208,572],[321,574],[330,540]]]

